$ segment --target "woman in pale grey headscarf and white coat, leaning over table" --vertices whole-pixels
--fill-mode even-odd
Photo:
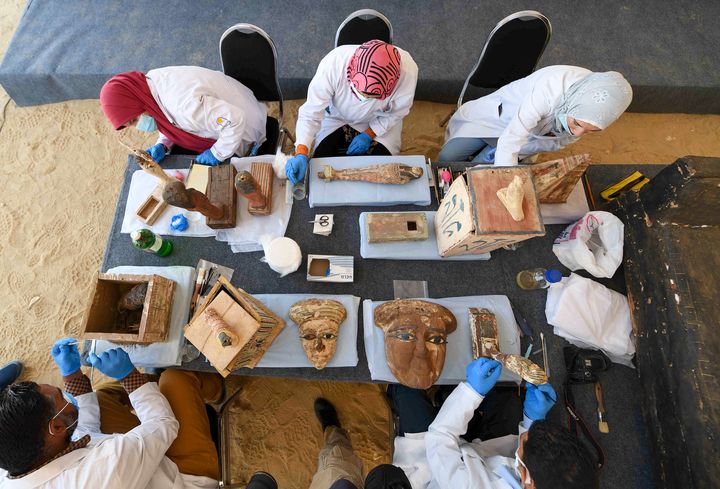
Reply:
[[[438,160],[517,165],[606,129],[631,100],[616,71],[548,66],[464,103],[450,118]]]

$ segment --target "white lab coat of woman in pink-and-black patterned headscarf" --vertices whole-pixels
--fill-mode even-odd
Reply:
[[[298,144],[308,148],[320,143],[336,129],[350,125],[362,132],[368,127],[375,140],[391,154],[400,153],[402,120],[410,112],[418,68],[410,53],[400,51],[400,79],[393,93],[385,100],[358,100],[347,79],[347,67],[357,45],[340,46],[330,51],[318,65],[310,81],[305,103],[298,111],[295,131]]]

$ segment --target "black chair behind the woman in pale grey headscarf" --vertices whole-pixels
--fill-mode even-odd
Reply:
[[[465,80],[458,108],[468,85],[498,89],[535,71],[551,36],[550,21],[534,10],[516,12],[498,22]]]

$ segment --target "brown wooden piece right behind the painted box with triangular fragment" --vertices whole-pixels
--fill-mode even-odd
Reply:
[[[574,155],[530,166],[541,204],[562,204],[590,165],[590,155]]]

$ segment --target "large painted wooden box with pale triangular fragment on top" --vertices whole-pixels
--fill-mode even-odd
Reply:
[[[523,180],[524,219],[517,222],[496,192],[518,175]],[[475,255],[543,236],[545,226],[527,167],[483,166],[470,168],[450,186],[435,215],[435,235],[440,256]]]

